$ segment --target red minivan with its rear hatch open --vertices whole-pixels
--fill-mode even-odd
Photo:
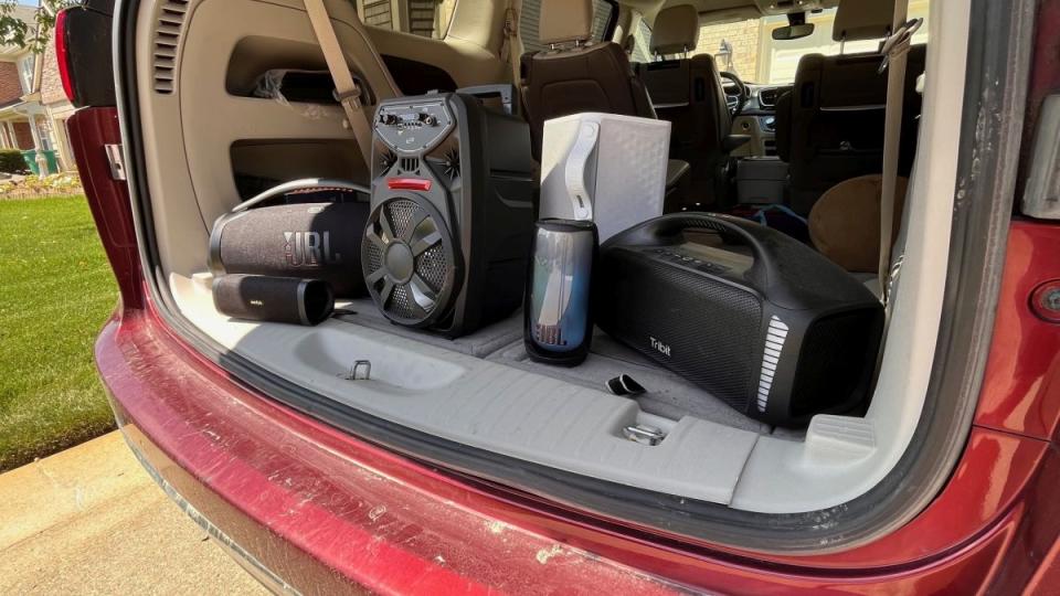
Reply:
[[[1060,2],[85,0],[56,55],[120,287],[95,347],[118,424],[271,589],[1060,593]],[[451,338],[364,296],[317,326],[219,310],[219,217],[374,201],[393,162],[362,132],[436,125],[377,106],[485,85],[542,179],[545,120],[664,120],[666,211],[757,221],[873,291],[861,406],[763,422],[598,330],[549,365],[518,311]],[[638,148],[601,168],[646,171]],[[748,341],[693,332],[711,308],[670,313],[681,347]]]

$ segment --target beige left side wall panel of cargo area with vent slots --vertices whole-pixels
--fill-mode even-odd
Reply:
[[[328,0],[327,6],[351,68],[368,83],[374,98],[396,95],[352,6],[343,0]],[[165,3],[141,4],[139,97],[145,141],[151,148],[148,183],[162,265],[187,275],[205,267],[210,225],[240,201],[233,175],[236,166],[255,175],[268,173],[273,166],[272,178],[289,179],[312,175],[321,168],[336,171],[336,156],[352,156],[343,177],[367,181],[368,175],[337,105],[230,93],[233,87],[245,88],[258,71],[325,67],[301,0],[189,2],[181,23],[167,23],[169,30],[179,32],[169,94],[153,88],[155,38],[162,7]],[[365,109],[372,113],[372,106]],[[282,164],[278,156],[255,161],[265,151],[254,148],[285,143],[308,151],[277,151],[289,158]],[[194,149],[184,151],[184,147]],[[336,152],[321,161],[328,148]]]

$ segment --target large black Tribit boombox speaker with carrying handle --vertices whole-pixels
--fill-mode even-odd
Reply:
[[[765,226],[680,213],[601,248],[597,324],[744,414],[799,426],[866,407],[883,307]]]

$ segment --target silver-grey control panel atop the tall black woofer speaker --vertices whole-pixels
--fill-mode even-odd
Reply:
[[[421,153],[436,147],[455,123],[445,100],[418,100],[380,106],[375,135],[395,152]]]

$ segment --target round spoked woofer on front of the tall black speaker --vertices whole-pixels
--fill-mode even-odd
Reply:
[[[427,327],[457,294],[462,269],[452,236],[425,199],[401,195],[369,215],[361,249],[368,292],[400,324]]]

